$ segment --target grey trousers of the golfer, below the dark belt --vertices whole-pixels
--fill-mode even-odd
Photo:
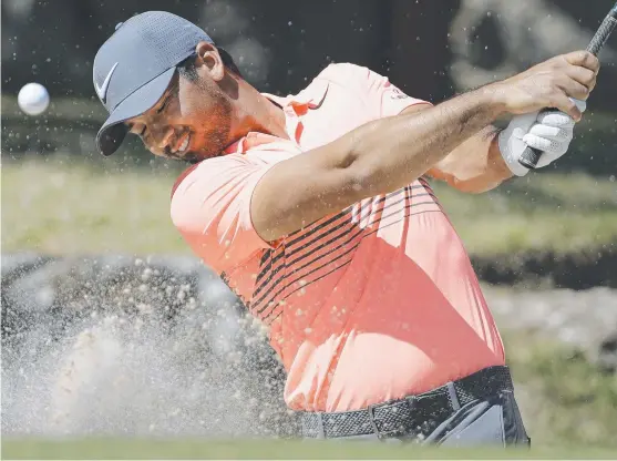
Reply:
[[[502,391],[489,399],[472,401],[439,423],[430,433],[378,439],[359,436],[336,440],[380,440],[387,443],[413,443],[441,447],[529,447],[531,439],[514,393]]]

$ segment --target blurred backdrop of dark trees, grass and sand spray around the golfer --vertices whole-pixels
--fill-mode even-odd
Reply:
[[[258,90],[331,62],[439,103],[586,48],[613,0],[3,0],[2,433],[289,437],[264,332],[168,218],[185,165],[132,140],[103,160],[92,86],[116,23],[202,25]],[[479,196],[435,191],[503,331],[536,445],[617,448],[617,40],[554,166]],[[29,82],[49,110],[23,114]]]

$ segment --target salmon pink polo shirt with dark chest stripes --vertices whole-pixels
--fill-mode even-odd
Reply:
[[[249,133],[194,165],[174,186],[171,215],[268,326],[289,408],[366,408],[504,365],[469,256],[424,178],[276,243],[251,224],[253,191],[278,162],[424,102],[353,64],[329,65],[299,94],[266,96],[282,106],[289,140]]]

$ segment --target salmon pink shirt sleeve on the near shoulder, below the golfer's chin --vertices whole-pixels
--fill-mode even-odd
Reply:
[[[270,248],[253,226],[250,199],[271,166],[241,154],[226,155],[199,163],[174,186],[172,222],[195,254],[217,273]]]

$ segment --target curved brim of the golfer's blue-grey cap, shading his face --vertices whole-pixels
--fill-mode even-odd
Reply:
[[[152,109],[169,86],[175,71],[176,68],[167,69],[132,93],[112,111],[96,134],[96,146],[103,155],[107,156],[117,151],[128,133],[128,127],[124,122]]]

